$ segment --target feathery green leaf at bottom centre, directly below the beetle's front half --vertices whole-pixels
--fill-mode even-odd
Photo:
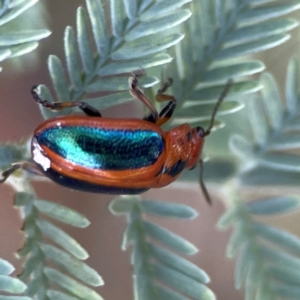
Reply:
[[[195,254],[197,248],[184,238],[144,219],[144,215],[154,215],[190,220],[197,216],[194,209],[182,204],[121,197],[111,202],[110,210],[127,218],[122,248],[125,250],[132,246],[135,299],[216,299],[205,286],[209,282],[207,274],[163,246],[185,255]]]

